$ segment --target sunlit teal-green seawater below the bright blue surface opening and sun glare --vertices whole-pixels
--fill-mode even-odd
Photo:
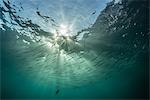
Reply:
[[[28,32],[17,32],[17,28],[2,24],[1,98],[148,98],[148,4],[123,1],[107,5],[94,24],[81,31],[88,31],[87,37],[77,42],[73,37],[65,42],[62,38],[53,46],[52,34],[39,31],[36,24],[26,26],[35,30],[30,34],[35,36],[32,39],[26,35]],[[122,6],[118,15],[116,8]],[[7,12],[0,7],[4,22],[3,13]],[[117,19],[111,19],[111,14]],[[109,27],[109,20],[117,21]]]

